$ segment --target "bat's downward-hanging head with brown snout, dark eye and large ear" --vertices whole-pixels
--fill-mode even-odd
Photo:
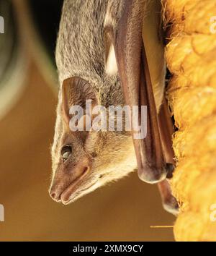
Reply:
[[[89,82],[79,77],[63,82],[51,152],[50,185],[50,196],[63,204],[120,179],[137,166],[132,137],[127,132],[86,130],[86,101],[91,102],[91,111],[101,104],[100,93],[96,93]],[[81,107],[81,114],[71,111],[75,106],[76,110]],[[73,121],[76,127],[83,124],[84,129],[73,129]]]

